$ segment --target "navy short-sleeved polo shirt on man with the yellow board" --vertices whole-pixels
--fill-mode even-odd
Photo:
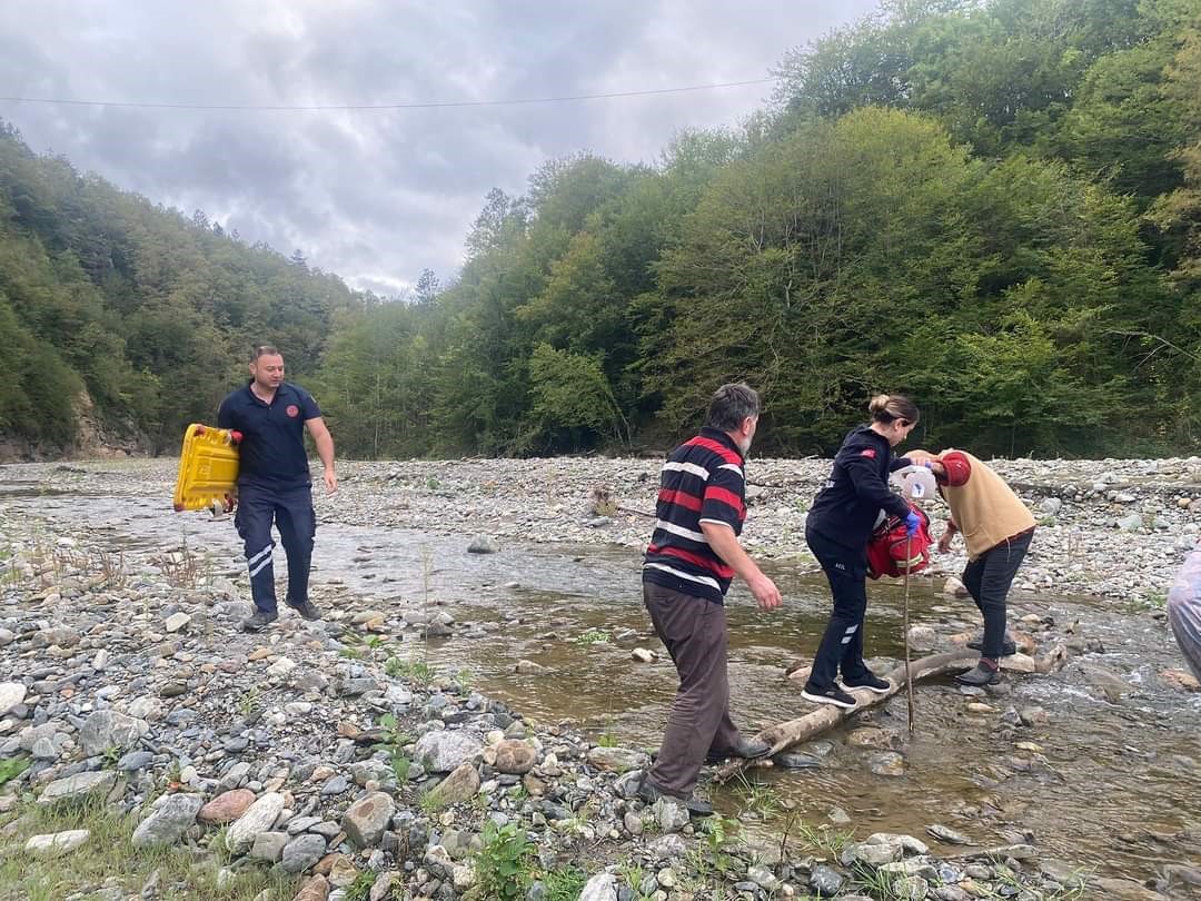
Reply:
[[[233,392],[217,408],[217,428],[241,432],[238,483],[277,488],[306,485],[309,455],[304,449],[304,424],[321,416],[317,401],[298,384],[281,382],[270,404],[250,389]]]

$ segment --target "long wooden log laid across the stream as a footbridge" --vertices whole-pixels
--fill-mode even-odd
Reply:
[[[932,654],[928,657],[921,657],[913,661],[912,672],[913,681],[920,681],[922,679],[930,679],[931,676],[943,675],[945,673],[951,673],[955,670],[961,670],[966,668],[966,664],[979,657],[978,651],[969,650],[967,648],[946,651],[944,654]],[[1048,654],[1046,657],[1041,657],[1035,661],[1035,672],[1038,673],[1051,673],[1060,669],[1068,660],[1068,650],[1064,645],[1059,644]],[[858,691],[850,692],[850,696],[858,702],[850,710],[844,710],[843,708],[836,708],[831,704],[823,704],[815,710],[806,714],[805,716],[799,716],[795,720],[789,720],[783,723],[776,723],[775,726],[769,726],[766,729],[759,732],[754,738],[757,741],[766,741],[771,745],[771,751],[757,760],[745,760],[741,758],[734,758],[728,760],[721,768],[718,768],[717,774],[713,776],[716,782],[728,782],[736,775],[742,772],[742,770],[748,766],[770,766],[771,758],[778,753],[788,751],[790,747],[795,747],[802,741],[808,741],[815,735],[833,728],[843,720],[855,714],[868,710],[870,708],[878,706],[885,700],[891,698],[894,694],[901,692],[906,686],[906,666],[901,663],[894,667],[884,676],[891,682],[888,692],[877,694],[876,692],[868,691],[867,688],[859,688]]]

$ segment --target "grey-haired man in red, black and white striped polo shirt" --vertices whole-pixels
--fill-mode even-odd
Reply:
[[[657,521],[643,563],[643,598],[655,632],[680,674],[668,726],[639,795],[686,801],[698,816],[712,813],[693,798],[701,765],[723,757],[761,757],[771,748],[743,739],[730,721],[725,674],[725,592],[735,575],[764,610],[779,607],[779,590],[739,544],[746,519],[742,467],[759,424],[759,395],[745,383],[713,394],[700,434],[663,465]]]

